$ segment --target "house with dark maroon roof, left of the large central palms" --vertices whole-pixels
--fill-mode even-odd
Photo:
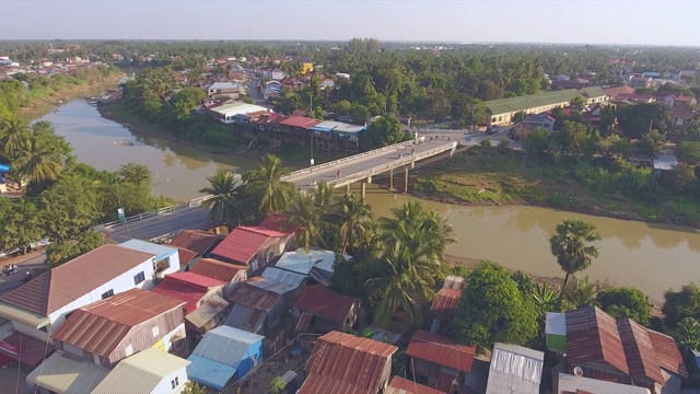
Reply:
[[[323,285],[308,286],[292,304],[296,331],[346,331],[358,322],[360,301]]]

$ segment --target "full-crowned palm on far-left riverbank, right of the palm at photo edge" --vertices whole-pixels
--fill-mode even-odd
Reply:
[[[63,160],[54,142],[43,129],[32,129],[23,149],[15,154],[16,173],[35,182],[56,179],[63,170]]]

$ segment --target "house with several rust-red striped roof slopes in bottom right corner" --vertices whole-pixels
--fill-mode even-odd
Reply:
[[[688,376],[673,338],[623,318],[615,321],[596,306],[565,313],[568,368],[586,378],[678,393]]]

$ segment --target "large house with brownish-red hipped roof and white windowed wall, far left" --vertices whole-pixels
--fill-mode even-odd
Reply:
[[[31,346],[32,337],[42,345],[50,341],[50,336],[73,310],[132,288],[150,289],[155,257],[155,254],[104,245],[5,292],[0,296],[0,316],[12,321],[14,334],[4,341],[21,343],[16,350],[23,362],[30,362],[32,356],[23,352]]]

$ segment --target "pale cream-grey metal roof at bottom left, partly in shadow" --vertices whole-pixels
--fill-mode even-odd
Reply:
[[[26,382],[55,393],[90,393],[108,372],[92,362],[78,362],[54,354],[26,376]]]

